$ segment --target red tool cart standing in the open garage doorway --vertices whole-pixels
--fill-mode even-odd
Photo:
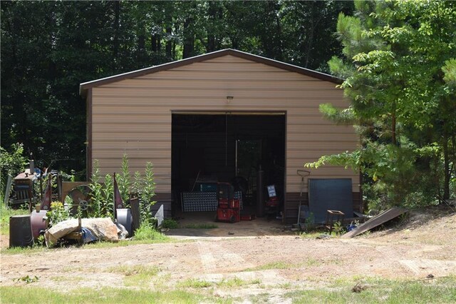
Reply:
[[[236,223],[241,221],[239,199],[234,198],[234,188],[230,183],[217,183],[217,218],[219,222]]]

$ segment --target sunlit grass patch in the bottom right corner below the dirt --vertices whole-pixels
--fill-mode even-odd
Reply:
[[[298,290],[286,293],[293,303],[455,303],[456,277],[434,280],[386,280],[366,278],[358,282],[360,292],[353,292],[353,280],[338,280],[330,288]]]

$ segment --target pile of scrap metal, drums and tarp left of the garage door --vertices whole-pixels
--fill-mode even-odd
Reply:
[[[140,225],[139,201],[133,198],[130,201],[131,208],[126,208],[115,181],[115,173],[113,178],[114,218],[81,218],[81,211],[86,211],[90,207],[88,183],[73,183],[71,185],[73,187],[68,187],[62,182],[57,171],[41,173],[39,169],[33,168],[33,161],[31,161],[31,168],[20,173],[16,178],[10,179],[13,185],[8,188],[13,188],[13,193],[11,195],[6,193],[8,196],[5,203],[10,207],[28,206],[30,211],[29,215],[11,216],[10,247],[33,245],[43,237],[47,246],[53,246],[59,242],[89,243],[94,240],[117,242],[132,236],[134,230]],[[43,181],[46,183],[45,191],[42,190]],[[39,186],[39,191],[36,191],[38,188],[36,186]],[[71,188],[71,190],[63,191],[63,188]],[[66,197],[68,198],[65,199]],[[53,207],[51,202],[54,201],[61,202],[71,216],[79,215],[79,218],[50,223],[48,212],[51,211]]]

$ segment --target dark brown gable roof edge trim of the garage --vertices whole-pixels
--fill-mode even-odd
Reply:
[[[130,71],[127,73],[109,76],[109,77],[105,77],[105,78],[100,78],[100,79],[96,79],[93,81],[87,81],[87,82],[81,83],[79,85],[79,94],[81,96],[86,96],[88,88],[93,88],[95,86],[101,86],[103,84],[113,83],[115,81],[121,81],[124,79],[144,76],[146,74],[152,74],[152,73],[156,73],[158,71],[174,69],[179,66],[186,66],[187,64],[194,64],[195,62],[201,62],[201,61],[214,59],[214,58],[227,56],[227,55],[239,57],[242,59],[247,59],[250,61],[255,61],[259,64],[266,64],[267,66],[274,66],[279,69],[296,72],[296,73],[310,76],[313,78],[317,78],[317,79],[320,79],[323,81],[330,81],[330,82],[338,83],[338,84],[342,83],[342,81],[343,81],[341,78],[337,78],[335,76],[331,76],[329,74],[324,74],[324,73],[321,73],[318,71],[301,68],[300,66],[294,66],[293,64],[286,64],[281,61],[276,61],[274,59],[268,59],[266,57],[249,54],[249,53],[246,53],[243,51],[237,51],[235,49],[224,49],[224,50],[220,50],[220,51],[214,51],[212,53],[207,53],[207,54],[203,54],[203,55],[199,55],[199,56],[195,56],[195,57],[190,57],[187,59],[172,61],[167,64],[160,64],[158,66],[150,66],[145,69]]]

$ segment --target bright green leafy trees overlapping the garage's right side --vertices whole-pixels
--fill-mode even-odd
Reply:
[[[345,78],[351,106],[321,105],[327,118],[353,123],[361,146],[323,156],[363,173],[370,208],[420,206],[455,197],[456,7],[452,1],[356,1],[340,14],[343,57],[329,61]]]

